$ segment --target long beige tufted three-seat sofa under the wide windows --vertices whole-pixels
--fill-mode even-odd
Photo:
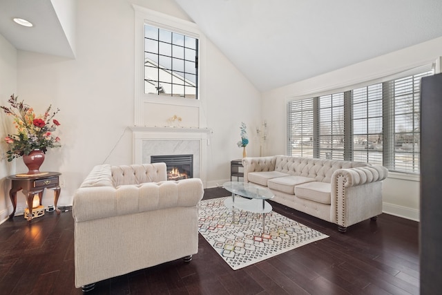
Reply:
[[[340,231],[382,213],[384,166],[286,155],[243,158],[242,165],[244,181],[271,189],[273,201],[336,223]]]

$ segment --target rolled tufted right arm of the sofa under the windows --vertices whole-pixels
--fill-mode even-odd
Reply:
[[[382,165],[372,165],[357,168],[338,169],[332,175],[332,187],[343,185],[354,187],[369,182],[381,181],[387,178],[388,169]]]

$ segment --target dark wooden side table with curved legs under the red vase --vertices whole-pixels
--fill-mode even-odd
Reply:
[[[44,189],[52,189],[54,191],[54,207],[57,214],[59,214],[60,210],[57,208],[60,196],[59,175],[61,175],[59,172],[42,172],[35,175],[15,174],[8,176],[7,178],[12,182],[9,197],[12,207],[14,207],[14,211],[10,214],[9,219],[12,220],[14,218],[15,209],[17,209],[17,191],[21,190],[23,190],[23,194],[28,201],[28,221],[32,219],[32,200],[34,195],[38,193],[41,204]]]

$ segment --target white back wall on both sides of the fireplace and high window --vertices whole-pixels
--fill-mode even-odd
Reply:
[[[17,70],[15,64],[0,68],[0,75],[17,73],[17,87],[15,79],[10,79],[14,83],[1,91],[2,105],[14,92],[37,113],[43,113],[49,104],[61,109],[56,118],[61,123],[58,130],[63,146],[48,151],[41,166],[44,171],[62,173],[61,182],[66,185],[61,188],[61,206],[72,203],[75,190],[93,166],[132,162],[132,133],[127,128],[134,122],[135,12],[131,2],[189,20],[172,0],[78,0],[75,59],[19,50]],[[0,46],[0,59],[11,62],[9,55],[15,49],[7,53],[5,45]],[[206,126],[213,129],[206,163],[211,187],[230,178],[230,161],[242,155],[236,146],[241,122],[248,126],[260,122],[260,93],[210,40],[205,68],[208,91],[201,99]],[[248,148],[250,155],[258,155],[259,146],[253,138]],[[17,173],[26,171],[21,158],[15,162]],[[2,176],[8,174],[3,172]],[[0,206],[1,202],[4,206],[6,192],[0,193]],[[17,201],[18,207],[23,206],[21,193]],[[10,204],[9,198],[7,202]],[[43,203],[52,202],[49,191]]]

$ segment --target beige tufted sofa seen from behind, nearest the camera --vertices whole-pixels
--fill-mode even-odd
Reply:
[[[75,287],[198,252],[198,178],[166,181],[166,164],[95,166],[75,192]]]

